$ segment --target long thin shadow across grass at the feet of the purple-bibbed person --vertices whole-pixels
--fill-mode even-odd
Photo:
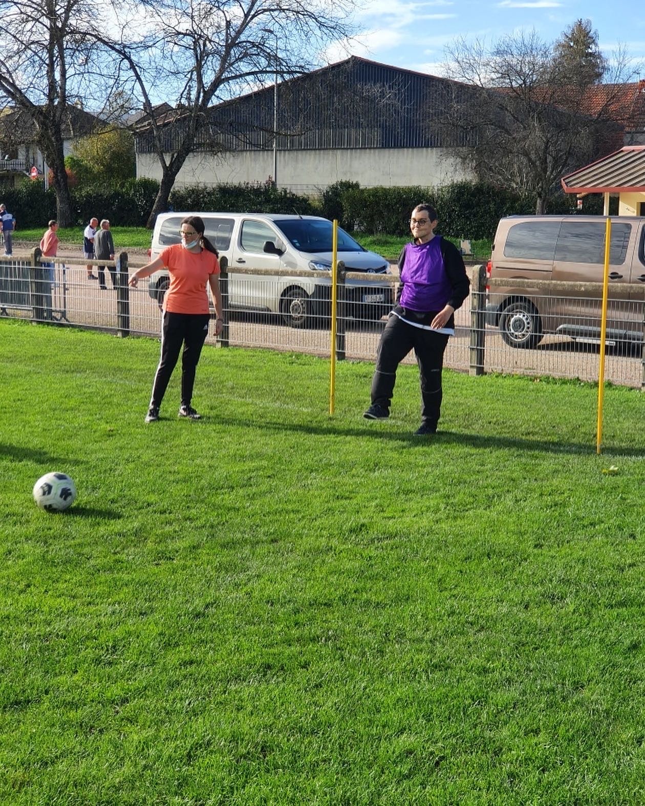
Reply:
[[[387,423],[370,423],[360,426],[339,426],[333,421],[328,426],[298,425],[284,422],[270,422],[268,420],[254,423],[244,423],[241,419],[223,418],[220,423],[228,422],[231,426],[253,425],[274,431],[296,431],[302,434],[328,435],[338,434],[343,437],[362,437],[380,439],[389,442],[403,443],[410,448],[432,448],[440,445],[455,444],[480,448],[482,451],[494,449],[508,450],[510,448],[520,451],[542,451],[549,454],[589,454],[595,453],[595,442],[550,442],[546,439],[531,439],[510,437],[504,434],[460,434],[456,431],[439,429],[433,436],[417,437],[412,430],[398,431],[397,425],[392,421]],[[645,447],[633,445],[606,445],[602,447],[603,455],[645,456]]]

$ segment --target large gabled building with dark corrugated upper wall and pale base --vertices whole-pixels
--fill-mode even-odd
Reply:
[[[439,185],[471,178],[449,149],[465,135],[442,127],[465,85],[358,56],[277,87],[277,184],[311,192],[340,179],[361,185]],[[273,85],[213,106],[198,152],[177,185],[265,181],[273,174]],[[181,112],[164,127],[173,152]],[[214,155],[213,143],[223,153]],[[152,136],[135,135],[139,176],[159,178]]]

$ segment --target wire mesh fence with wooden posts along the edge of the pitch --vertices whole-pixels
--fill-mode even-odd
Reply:
[[[27,259],[0,257],[0,315],[95,328],[121,336],[138,334],[158,338],[163,289],[156,289],[155,277],[150,286],[147,281],[142,281],[138,289],[127,285],[128,273],[145,261],[132,264],[127,253],[122,253],[115,262],[102,262],[108,267],[106,289],[100,288],[97,280],[87,279],[85,265],[90,262],[95,267],[98,265],[96,260],[61,257],[54,259],[53,270],[48,270],[42,265],[39,250],[33,251]],[[472,268],[471,274],[470,301],[456,312],[456,333],[448,342],[445,356],[447,367],[473,375],[510,372],[597,380],[599,346],[589,339],[546,334],[537,346],[528,349],[506,343],[499,326],[486,322],[487,280],[483,267]],[[221,280],[223,333],[215,339],[211,331],[207,342],[217,341],[224,347],[263,347],[330,355],[330,278],[320,272],[313,289],[311,278],[312,272],[277,275],[248,268],[228,268]],[[339,359],[374,359],[396,285],[395,275],[344,272],[340,267],[335,343]],[[558,299],[556,289],[543,293],[545,300]],[[570,293],[567,300],[572,301]],[[590,315],[589,305],[589,297],[584,300],[581,297],[580,314],[577,319],[572,314],[573,320],[584,323],[585,317]],[[600,297],[593,305],[600,310]],[[642,327],[644,307],[642,299],[620,301],[622,317],[636,328]],[[406,360],[413,362],[414,355]],[[609,344],[605,380],[643,388],[643,372],[642,339]]]

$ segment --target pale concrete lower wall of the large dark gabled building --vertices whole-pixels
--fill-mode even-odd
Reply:
[[[137,177],[161,179],[153,154],[136,155]],[[176,188],[264,182],[273,177],[273,152],[193,154],[177,175]],[[473,179],[445,148],[365,148],[277,152],[277,185],[295,193],[317,193],[340,180],[361,187],[436,187]]]

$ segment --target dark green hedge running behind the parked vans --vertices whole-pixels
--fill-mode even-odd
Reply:
[[[132,179],[113,188],[73,188],[75,223],[84,224],[96,216],[109,218],[114,226],[145,226],[158,189],[153,179]],[[40,182],[25,180],[17,188],[7,188],[0,201],[15,215],[19,230],[47,226],[56,217],[56,195],[51,188],[45,191]],[[215,188],[193,185],[173,190],[169,199],[171,210],[318,214],[337,218],[346,230],[372,235],[409,235],[410,212],[420,202],[435,206],[439,231],[473,240],[492,239],[497,221],[506,215],[534,211],[529,198],[482,182],[456,182],[439,188],[361,188],[358,182],[339,181],[318,200],[276,189],[270,181]],[[547,212],[575,213],[576,197],[560,193]],[[601,214],[602,197],[585,197],[583,212]]]

